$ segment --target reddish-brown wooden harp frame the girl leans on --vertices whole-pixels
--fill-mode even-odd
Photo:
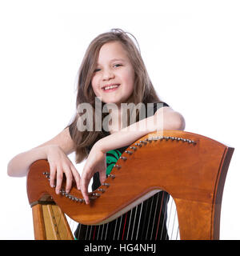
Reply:
[[[86,225],[110,222],[159,190],[174,198],[181,239],[219,239],[222,193],[233,152],[232,147],[186,131],[146,134],[90,193],[89,205],[75,186],[69,194],[55,194],[48,181],[49,164],[38,160],[27,176],[35,239],[73,239],[64,214]]]

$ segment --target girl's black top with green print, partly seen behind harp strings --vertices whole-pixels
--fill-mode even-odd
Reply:
[[[147,117],[154,114],[159,107],[168,106],[165,102],[157,103],[154,103],[154,111],[146,113]],[[71,135],[71,126],[69,130]],[[104,134],[110,135],[109,132]],[[106,152],[106,175],[110,174],[118,158],[129,146]],[[90,151],[90,148],[87,150]],[[99,186],[99,174],[96,173],[93,177],[92,190],[97,190]],[[169,238],[166,230],[168,200],[169,194],[165,191],[158,192],[114,221],[97,226],[79,224],[74,236],[80,240],[166,240]]]

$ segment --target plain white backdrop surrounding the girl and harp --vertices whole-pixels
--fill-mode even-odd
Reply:
[[[7,163],[70,122],[86,47],[111,28],[138,39],[154,87],[186,131],[235,148],[220,238],[239,239],[239,13],[230,0],[1,1],[0,239],[34,239],[26,178],[8,177]]]

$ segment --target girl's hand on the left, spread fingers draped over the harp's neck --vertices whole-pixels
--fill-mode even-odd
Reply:
[[[59,194],[62,188],[63,174],[66,175],[66,193],[70,192],[73,178],[78,190],[80,190],[80,175],[78,174],[78,170],[76,170],[63,150],[57,145],[50,145],[46,146],[46,154],[50,164],[50,186],[54,187],[56,185],[56,194]],[[56,184],[55,179],[57,179]]]

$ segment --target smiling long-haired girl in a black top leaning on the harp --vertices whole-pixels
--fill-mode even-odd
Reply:
[[[10,176],[26,176],[32,162],[46,158],[50,164],[50,186],[55,187],[56,193],[60,193],[65,174],[66,192],[70,192],[72,183],[75,182],[88,204],[90,179],[94,178],[92,189],[96,190],[131,143],[154,130],[184,129],[182,115],[158,98],[141,54],[127,34],[129,33],[123,30],[113,29],[90,42],[78,73],[74,121],[50,141],[16,155],[8,164]],[[83,113],[79,111],[79,106],[82,103],[92,106],[94,127],[98,126],[98,121],[102,123],[106,118],[106,113],[102,113],[101,108],[96,106],[96,97],[98,101],[100,99],[102,110],[105,106],[110,109],[111,104],[116,106],[110,111],[109,130],[81,130],[79,123],[82,123]],[[137,110],[137,120],[134,123],[130,123],[133,113],[130,110],[124,126],[122,103],[134,103],[134,106],[143,103],[146,107],[147,103],[162,103],[162,107],[159,107],[161,104],[154,104],[152,115],[142,119]],[[156,125],[153,121],[157,118],[161,121]],[[151,125],[146,126],[146,129],[139,129],[146,122]],[[72,152],[76,154],[77,163],[86,159],[82,177],[67,157]],[[167,201],[168,194],[159,192],[108,224],[78,225],[75,236],[79,239],[168,238],[165,216]]]

